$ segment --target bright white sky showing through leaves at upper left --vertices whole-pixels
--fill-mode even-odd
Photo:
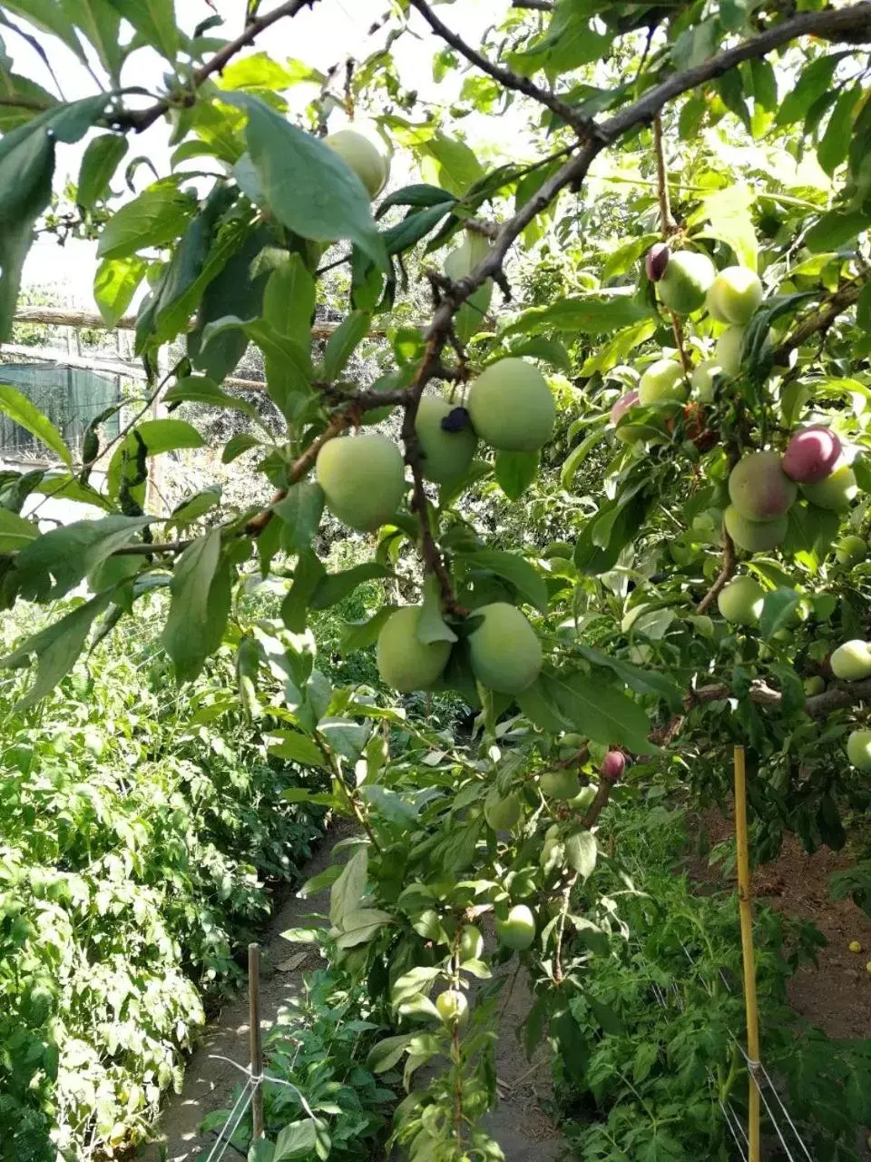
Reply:
[[[265,0],[261,12],[268,12],[275,2]],[[200,21],[214,15],[215,10],[224,17],[225,23],[213,35],[233,37],[244,27],[245,0],[214,0],[213,3],[206,3],[206,0],[175,0],[175,7],[182,27],[188,31],[193,31]],[[383,33],[374,38],[369,38],[367,33],[372,24],[389,10],[389,7],[390,0],[321,0],[314,9],[305,8],[293,20],[280,21],[268,29],[261,37],[259,48],[268,51],[276,60],[295,57],[321,71],[326,71],[337,62],[344,62],[350,55],[363,58],[382,43]],[[494,16],[499,19],[506,10],[504,0],[459,0],[456,3],[440,6],[442,19],[472,44],[480,44]],[[441,99],[448,95],[448,86],[453,86],[454,81],[452,79],[437,86],[432,80],[432,57],[440,42],[417,13],[413,14],[412,29],[416,35],[403,36],[394,49],[401,74],[410,87],[416,87],[420,92],[424,99]],[[7,51],[15,60],[16,71],[55,92],[42,60],[33,49],[13,33],[5,33],[5,38]],[[41,40],[48,42],[42,35]],[[57,41],[52,41],[50,46],[46,43],[46,48],[52,62],[56,63],[56,73],[67,100],[94,92],[93,80],[72,52]],[[164,71],[165,63],[157,53],[141,50],[130,58],[122,80],[125,85],[151,84],[153,87],[154,78],[161,77]],[[303,105],[312,95],[314,89],[310,86],[298,86],[288,94],[291,103]],[[519,127],[518,121],[517,128]],[[494,123],[494,119],[472,116],[466,120],[463,128],[473,143],[481,144],[485,144],[494,136],[504,139],[506,131],[511,131],[511,125],[506,125],[504,117]],[[80,146],[65,146],[59,150],[58,182],[67,177],[75,177],[85,145],[86,142]],[[142,137],[131,141],[128,157],[142,153],[154,162],[159,172],[168,171],[167,127],[163,121]],[[143,167],[139,174],[141,184],[147,184],[149,171]],[[120,182],[116,179],[114,188],[118,187]],[[51,284],[60,287],[66,304],[93,308],[91,285],[95,266],[94,244],[73,239],[60,248],[55,238],[41,238],[28,257],[23,286]]]

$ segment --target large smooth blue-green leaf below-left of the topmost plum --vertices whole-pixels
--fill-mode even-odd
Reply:
[[[228,93],[226,100],[249,114],[249,152],[264,198],[279,222],[316,242],[347,238],[387,268],[368,194],[341,158],[255,96]]]

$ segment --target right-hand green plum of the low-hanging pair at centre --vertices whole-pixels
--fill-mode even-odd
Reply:
[[[475,677],[499,694],[519,694],[541,670],[541,643],[519,609],[496,601],[473,611],[483,622],[469,634]]]

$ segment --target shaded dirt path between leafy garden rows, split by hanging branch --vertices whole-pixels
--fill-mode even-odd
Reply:
[[[303,868],[303,880],[323,871],[330,853],[341,838],[334,829],[318,845]],[[310,927],[312,911],[323,908],[324,897],[297,899],[290,896],[273,917],[261,940],[262,980],[260,985],[261,1024],[264,1032],[276,1021],[279,1011],[297,994],[302,976],[319,962],[315,949],[289,945],[281,933],[291,927]],[[539,1050],[534,1062],[526,1060],[516,1037],[531,1006],[528,989],[518,977],[505,1003],[502,1035],[496,1048],[496,1075],[502,1100],[489,1114],[485,1126],[502,1146],[506,1162],[552,1162],[562,1146],[562,1138],[546,1113],[549,1103],[550,1064],[547,1048]],[[194,1162],[214,1142],[215,1134],[200,1135],[200,1124],[214,1110],[229,1109],[240,1073],[226,1061],[239,1066],[249,1061],[247,997],[242,994],[207,1026],[200,1048],[188,1061],[185,1085],[168,1098],[157,1136],[136,1155],[142,1162]],[[532,1068],[531,1068],[532,1067]],[[225,1157],[239,1162],[242,1154],[228,1150]]]

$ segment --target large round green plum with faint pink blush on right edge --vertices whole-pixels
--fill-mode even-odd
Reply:
[[[481,439],[501,452],[534,452],[547,444],[556,423],[547,380],[525,359],[499,359],[485,367],[466,406]]]

